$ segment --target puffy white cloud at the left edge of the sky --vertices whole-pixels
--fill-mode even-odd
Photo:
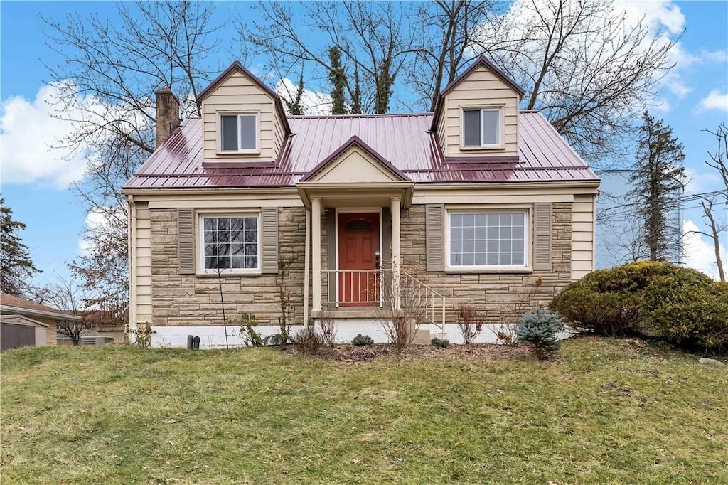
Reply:
[[[15,96],[0,109],[0,149],[4,184],[50,184],[65,188],[84,176],[86,160],[60,146],[74,132],[74,125],[53,117],[53,101],[66,89],[48,84],[34,100]],[[73,116],[66,113],[66,116]]]

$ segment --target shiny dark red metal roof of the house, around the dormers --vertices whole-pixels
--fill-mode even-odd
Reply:
[[[288,117],[291,132],[280,159],[203,166],[202,121],[186,119],[124,189],[293,186],[353,136],[417,183],[598,181],[537,111],[519,115],[518,160],[446,159],[432,113]]]

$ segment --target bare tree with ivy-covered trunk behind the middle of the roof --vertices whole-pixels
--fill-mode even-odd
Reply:
[[[293,13],[290,4],[261,3],[262,20],[242,24],[240,32],[257,53],[265,55],[273,71],[302,66],[306,79],[324,80],[344,74],[344,91],[352,105],[365,113],[389,111],[392,89],[410,51],[403,28],[405,7],[385,2],[312,1]],[[318,31],[325,44],[304,33]],[[341,53],[341,67],[329,52]]]

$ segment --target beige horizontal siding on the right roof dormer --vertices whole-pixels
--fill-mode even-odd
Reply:
[[[507,157],[518,155],[518,92],[479,66],[454,90],[448,92],[438,120],[438,136],[446,157]],[[461,114],[464,107],[503,107],[502,149],[464,150],[461,148]]]

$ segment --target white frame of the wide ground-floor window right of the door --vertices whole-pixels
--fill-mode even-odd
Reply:
[[[479,265],[453,265],[450,253],[450,232],[451,216],[453,214],[472,213],[523,213],[523,264],[479,264]],[[499,207],[499,208],[457,208],[446,209],[445,218],[445,271],[452,273],[459,272],[532,272],[531,268],[531,220],[533,218],[531,208],[520,207]]]

